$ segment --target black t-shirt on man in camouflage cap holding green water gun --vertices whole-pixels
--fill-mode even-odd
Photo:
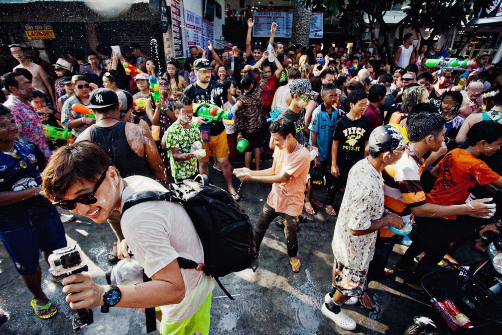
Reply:
[[[188,85],[185,91],[183,91],[183,96],[185,95],[197,104],[209,103],[223,107],[223,104],[227,101],[226,96],[223,95],[223,85],[213,80],[209,81],[206,89],[197,85],[197,82]],[[211,127],[211,136],[219,135],[225,130],[225,126],[221,121],[208,122],[208,125]]]

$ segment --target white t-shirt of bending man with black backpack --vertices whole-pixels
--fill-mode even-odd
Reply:
[[[144,191],[167,191],[153,179],[131,176],[124,179],[128,186],[122,191],[120,211],[133,194]],[[138,263],[152,277],[178,257],[204,262],[202,243],[192,220],[179,203],[148,201],[127,210],[120,226]],[[200,308],[214,288],[210,276],[203,271],[181,269],[185,283],[185,298],[177,304],[161,306],[170,321],[182,321]]]

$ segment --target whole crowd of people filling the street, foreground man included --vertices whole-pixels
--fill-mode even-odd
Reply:
[[[209,176],[210,166],[235,201],[232,178],[272,184],[254,223],[256,252],[279,217],[293,273],[300,247],[308,252],[300,223],[319,209],[336,216],[321,311],[344,329],[356,322],[343,304],[375,308],[368,282],[393,266],[407,274],[405,288],[422,291],[437,263],[458,262],[462,243],[499,233],[502,69],[491,55],[479,54],[472,68],[428,67],[438,42],[419,37],[415,46],[410,33],[389,60],[361,48],[278,42],[275,23],[264,50],[252,43],[252,19],[247,27],[242,50],[190,46],[190,57],[167,60],[164,74],[139,44],[69,50],[52,66],[10,46],[0,94],[0,238],[37,316],[57,313],[41,287],[39,250],[47,260],[66,246],[60,207],[107,221],[116,237],[108,260],[130,259],[130,250],[152,279],[102,286],[71,275],[62,280],[71,308],[160,306],[162,334],[207,334],[212,280],[176,260],[204,262],[190,217],[171,202],[122,207],[141,192]],[[211,119],[201,108],[234,117]],[[47,126],[67,137],[46,137]],[[243,167],[234,168],[240,149]],[[272,165],[262,159],[269,154]],[[416,224],[412,242],[394,232],[407,223]],[[388,264],[396,243],[409,248]],[[474,248],[486,246],[477,240]]]

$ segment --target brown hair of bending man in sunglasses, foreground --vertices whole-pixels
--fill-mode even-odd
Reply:
[[[94,184],[110,165],[110,156],[97,143],[81,141],[65,145],[53,151],[42,173],[45,196],[54,201],[62,199],[76,183]]]

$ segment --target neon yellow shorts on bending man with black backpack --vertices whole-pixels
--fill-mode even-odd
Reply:
[[[189,318],[173,322],[168,321],[162,316],[160,324],[161,335],[186,335],[199,332],[202,335],[209,334],[209,325],[211,323],[211,296],[213,292],[207,295],[206,300],[200,306],[199,310]]]

